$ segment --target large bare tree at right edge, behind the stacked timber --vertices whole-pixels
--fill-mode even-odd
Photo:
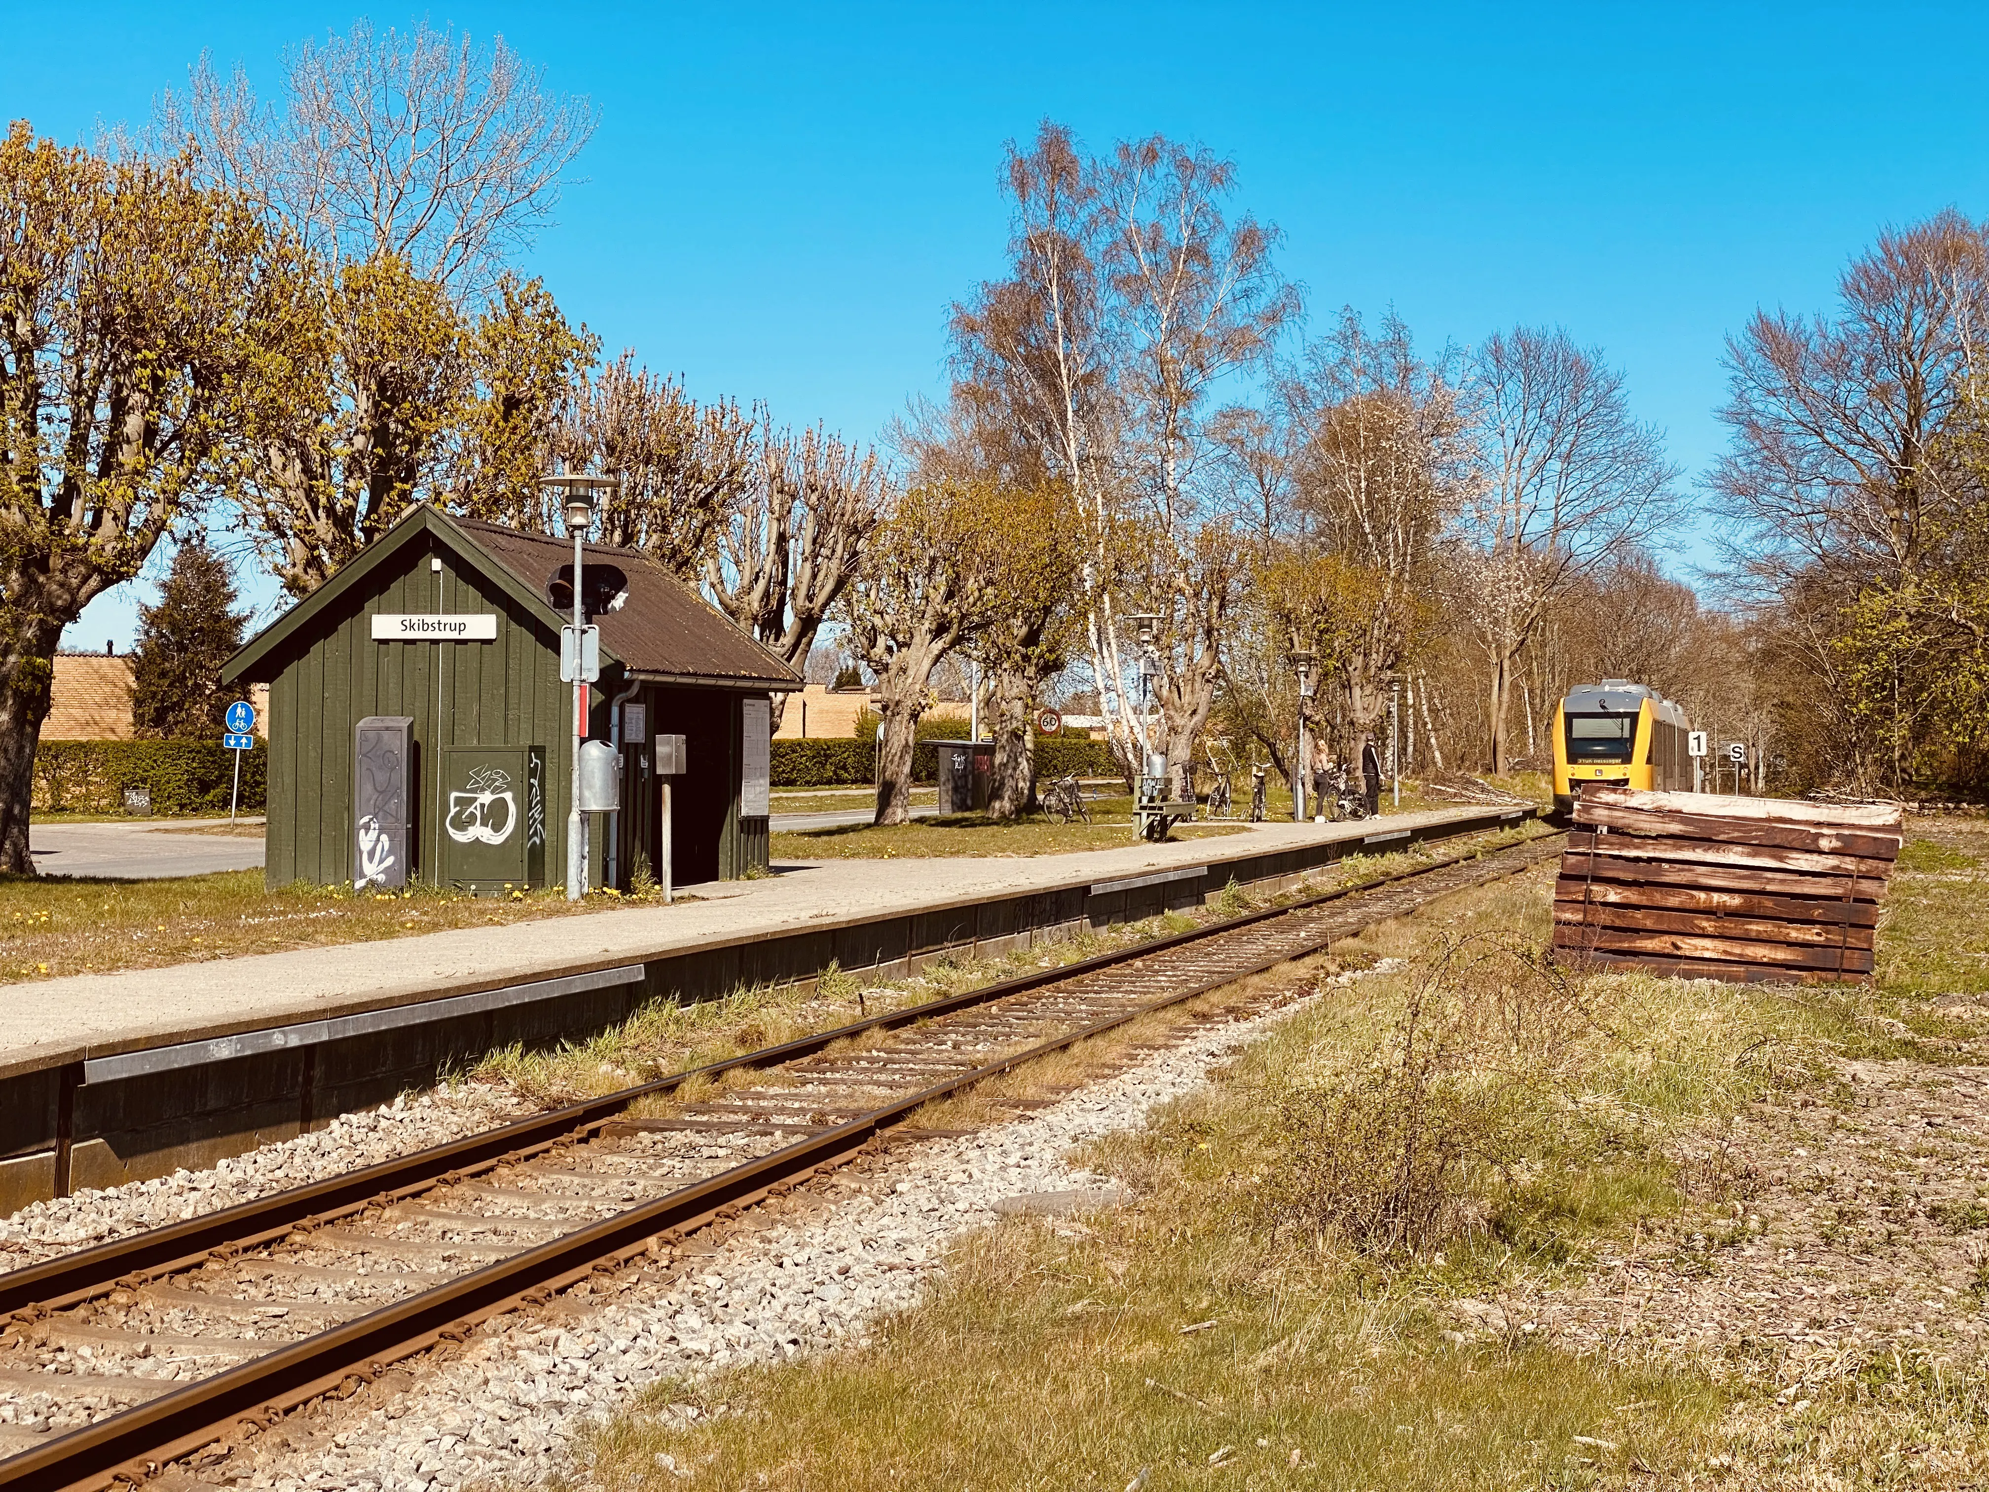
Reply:
[[[1838,304],[1756,312],[1730,340],[1713,485],[1736,571],[1830,720],[1834,774],[1901,792],[1935,740],[1989,738],[1983,227],[1945,211],[1882,235]]]

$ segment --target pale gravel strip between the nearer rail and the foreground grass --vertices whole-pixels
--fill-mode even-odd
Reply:
[[[1199,1030],[1028,1118],[919,1144],[853,1188],[857,1178],[839,1178],[825,1212],[736,1233],[670,1285],[642,1285],[565,1321],[487,1327],[455,1361],[412,1367],[392,1400],[326,1408],[308,1444],[251,1448],[223,1474],[284,1492],[442,1492],[555,1472],[585,1484],[575,1436],[648,1385],[863,1341],[869,1321],[909,1305],[947,1249],[1016,1212],[1016,1198],[1080,1192],[1110,1206],[1108,1178],[1064,1156],[1201,1086],[1211,1064],[1303,1003]],[[1044,1212],[1064,1212],[1062,1202]]]

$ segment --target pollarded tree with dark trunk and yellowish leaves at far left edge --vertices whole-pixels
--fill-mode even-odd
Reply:
[[[215,489],[294,263],[185,161],[0,141],[0,871],[32,873],[56,645]]]

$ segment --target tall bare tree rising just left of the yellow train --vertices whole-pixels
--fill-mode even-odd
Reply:
[[[1520,653],[1577,577],[1677,517],[1679,471],[1631,416],[1623,374],[1567,332],[1496,332],[1468,376],[1480,475],[1462,535],[1490,674],[1492,770],[1506,772]]]

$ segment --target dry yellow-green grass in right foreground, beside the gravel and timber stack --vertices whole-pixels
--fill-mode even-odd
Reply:
[[[1983,1379],[1943,1375],[1933,1355],[1874,1353],[1812,1402],[1703,1357],[1569,1351],[1522,1307],[1472,1327],[1484,1301],[1551,1299],[1631,1239],[1667,1239],[1685,1273],[1717,1267],[1717,1241],[1689,1229],[1752,1186],[1740,1158],[1715,1164],[1730,1122],[1832,1098],[1844,1056],[1925,1044],[1874,1025],[1896,989],[1563,983],[1530,953],[1549,881],[1460,893],[1341,945],[1337,959],[1404,965],[1325,989],[1211,1088],[1084,1154],[1134,1206],[1004,1221],[869,1345],[658,1387],[595,1440],[593,1478],[726,1492],[1979,1484]],[[1971,901],[1979,923],[1971,881],[1943,885],[1905,913],[1929,947]],[[1957,967],[1929,957],[1915,979]],[[1450,1162],[1418,1172],[1410,1154],[1444,1134]],[[1438,1225],[1390,1213],[1404,1176],[1436,1198],[1422,1213]],[[708,1412],[684,1426],[662,1402]]]

